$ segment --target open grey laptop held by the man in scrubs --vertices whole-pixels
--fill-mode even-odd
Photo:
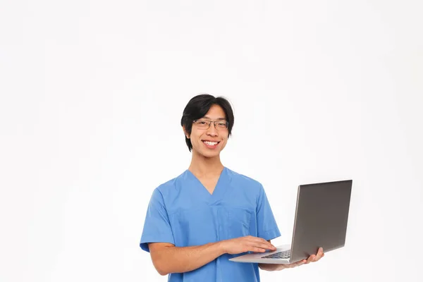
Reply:
[[[290,245],[240,255],[233,262],[291,264],[316,254],[319,247],[329,252],[345,245],[353,180],[298,186],[293,238]]]

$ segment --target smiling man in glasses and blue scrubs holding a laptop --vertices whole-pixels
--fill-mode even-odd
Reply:
[[[183,111],[181,125],[192,151],[185,172],[156,188],[140,247],[168,281],[260,281],[259,268],[281,270],[319,260],[323,250],[294,264],[250,264],[228,259],[276,250],[281,235],[262,185],[221,164],[233,128],[231,104],[200,94]]]

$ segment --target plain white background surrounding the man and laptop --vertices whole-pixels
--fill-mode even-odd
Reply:
[[[264,184],[352,178],[347,242],[262,281],[421,281],[422,1],[1,1],[0,281],[166,281],[138,245],[188,168],[200,92],[223,164]]]

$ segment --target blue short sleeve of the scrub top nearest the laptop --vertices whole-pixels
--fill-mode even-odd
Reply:
[[[264,240],[271,240],[281,236],[274,214],[271,212],[269,200],[261,185],[257,203],[257,237]]]

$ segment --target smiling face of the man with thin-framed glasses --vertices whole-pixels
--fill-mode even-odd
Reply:
[[[216,121],[208,125],[208,121]],[[228,129],[222,126],[226,123],[226,115],[221,106],[213,105],[205,116],[192,123],[190,137],[192,151],[207,158],[219,156],[228,141]],[[208,127],[208,128],[207,128]]]

